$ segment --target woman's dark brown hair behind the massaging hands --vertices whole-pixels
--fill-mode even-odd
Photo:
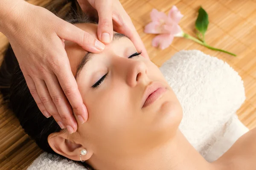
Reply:
[[[82,12],[76,0],[52,0],[44,7],[72,24],[96,22]],[[53,117],[47,119],[39,110],[26,85],[11,45],[7,48],[0,67],[0,92],[3,94],[4,104],[15,113],[25,132],[42,150],[57,154],[49,146],[47,138],[49,134],[61,131],[61,128]],[[93,170],[89,164],[82,164]]]

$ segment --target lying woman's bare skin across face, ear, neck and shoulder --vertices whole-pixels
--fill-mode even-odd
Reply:
[[[97,25],[75,25],[97,38]],[[87,51],[70,41],[65,50],[76,75]],[[90,55],[76,76],[90,117],[78,123],[76,133],[61,130],[48,136],[56,153],[80,161],[80,151],[86,149],[81,160],[96,170],[255,170],[256,128],[218,160],[207,162],[179,130],[182,108],[163,74],[142,54],[129,58],[136,52],[127,37],[115,37],[102,53]],[[161,83],[166,92],[142,107],[144,91],[152,82]]]

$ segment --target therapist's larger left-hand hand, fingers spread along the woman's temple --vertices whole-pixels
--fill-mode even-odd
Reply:
[[[15,11],[16,10],[16,11]],[[85,50],[99,53],[105,45],[87,32],[56,17],[45,8],[19,1],[15,20],[8,21],[3,33],[9,39],[29,90],[44,116],[53,116],[69,133],[77,130],[76,114],[81,122],[87,120],[64,40],[81,45]],[[72,112],[73,110],[73,112]]]

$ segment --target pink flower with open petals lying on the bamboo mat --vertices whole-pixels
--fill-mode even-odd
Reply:
[[[161,49],[167,48],[175,36],[182,36],[178,23],[183,15],[176,6],[173,6],[168,15],[163,12],[152,9],[150,13],[152,22],[145,26],[145,33],[161,34],[155,37],[152,41],[154,47],[160,46]]]

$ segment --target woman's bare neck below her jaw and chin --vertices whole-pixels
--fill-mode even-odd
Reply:
[[[133,156],[130,160],[117,158],[102,167],[105,170],[215,170],[185,136],[177,130],[172,141],[154,148],[143,156]]]

